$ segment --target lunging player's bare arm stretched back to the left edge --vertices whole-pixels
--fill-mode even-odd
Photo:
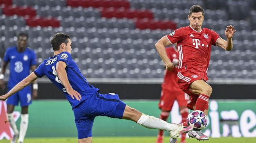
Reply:
[[[26,86],[28,86],[29,84],[31,84],[34,80],[36,80],[38,77],[36,76],[36,74],[34,74],[34,72],[32,72],[29,76],[27,76],[25,79],[23,79],[21,82],[19,82],[18,84],[16,84],[16,86],[14,86],[8,93],[6,93],[5,95],[0,96],[0,100],[6,100],[7,98],[9,98],[11,95],[13,95],[14,93],[22,90],[23,88],[25,88]]]

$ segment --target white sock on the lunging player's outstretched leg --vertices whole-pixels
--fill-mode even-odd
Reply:
[[[160,129],[166,131],[178,129],[178,125],[167,123],[164,120],[143,113],[137,123],[149,129]]]

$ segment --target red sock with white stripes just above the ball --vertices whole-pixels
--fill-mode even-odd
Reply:
[[[200,94],[198,99],[196,100],[195,110],[200,110],[204,112],[205,109],[208,109],[208,104],[209,104],[208,100],[209,100],[209,96]]]

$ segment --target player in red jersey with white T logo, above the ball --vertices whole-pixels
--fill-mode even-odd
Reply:
[[[227,41],[213,30],[203,28],[204,10],[200,5],[193,5],[189,9],[189,23],[187,27],[174,30],[163,36],[156,43],[156,49],[165,63],[167,70],[173,69],[173,63],[168,58],[165,46],[177,43],[179,52],[178,85],[190,96],[191,102],[187,107],[191,110],[201,110],[207,114],[209,97],[212,88],[206,83],[207,70],[211,57],[211,45],[219,46],[230,51],[233,47],[232,37],[236,30],[232,25],[227,26],[225,36]],[[183,125],[187,126],[187,122]],[[208,140],[201,131],[191,131],[189,136],[198,140]]]

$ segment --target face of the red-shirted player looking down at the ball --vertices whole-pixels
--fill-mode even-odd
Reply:
[[[192,13],[191,16],[188,15],[189,23],[194,29],[200,29],[203,24],[203,13]]]

